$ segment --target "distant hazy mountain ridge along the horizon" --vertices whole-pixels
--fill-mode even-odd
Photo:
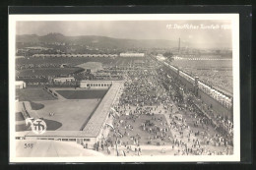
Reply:
[[[88,45],[103,48],[172,48],[177,47],[177,41],[164,39],[121,39],[97,35],[65,36],[61,33],[49,33],[46,35],[24,34],[16,36],[17,42],[61,42],[77,45]],[[188,42],[182,42],[184,46],[190,46]]]

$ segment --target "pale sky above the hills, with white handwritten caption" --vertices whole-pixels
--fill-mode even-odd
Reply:
[[[204,27],[202,27],[204,26]],[[129,39],[166,39],[200,47],[231,47],[230,21],[49,21],[17,22],[17,34],[102,35]]]

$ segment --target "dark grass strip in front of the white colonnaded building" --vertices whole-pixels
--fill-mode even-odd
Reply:
[[[102,98],[107,90],[56,90],[66,99],[94,99]]]

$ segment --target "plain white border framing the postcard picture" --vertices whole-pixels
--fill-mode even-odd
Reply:
[[[229,20],[232,25],[233,155],[16,157],[15,142],[15,37],[18,21],[182,21]],[[240,161],[240,86],[238,14],[110,14],[110,15],[9,15],[9,143],[10,162],[224,162]]]

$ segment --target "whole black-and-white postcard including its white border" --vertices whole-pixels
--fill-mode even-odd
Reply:
[[[10,15],[10,162],[239,161],[238,19]]]

